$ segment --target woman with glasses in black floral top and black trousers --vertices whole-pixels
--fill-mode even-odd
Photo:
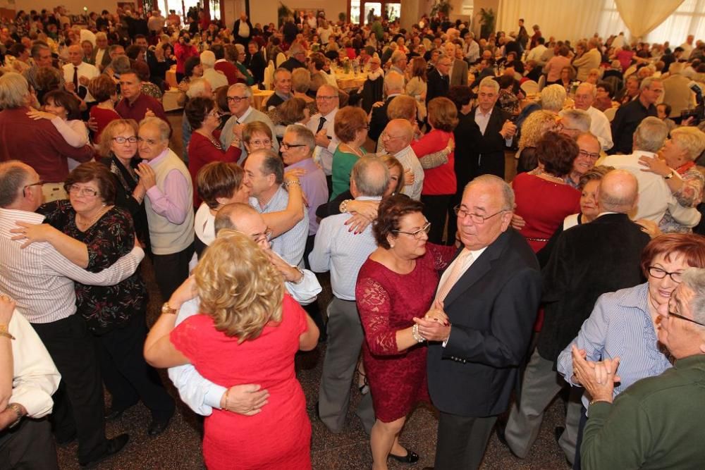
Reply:
[[[132,131],[129,128],[123,132]],[[49,242],[73,264],[88,271],[109,268],[136,244],[129,212],[115,204],[114,175],[101,163],[82,163],[69,173],[64,185],[68,200],[41,206],[38,212],[45,216],[45,223],[18,223],[23,228],[13,232],[22,230],[23,234],[16,238],[26,239],[25,246]],[[116,285],[75,283],[75,295],[76,314],[85,319],[94,335],[103,383],[112,395],[106,419],[119,418],[125,409],[142,400],[152,412],[148,434],[162,433],[175,408],[157,372],[142,357],[147,335],[147,289],[140,271]]]

